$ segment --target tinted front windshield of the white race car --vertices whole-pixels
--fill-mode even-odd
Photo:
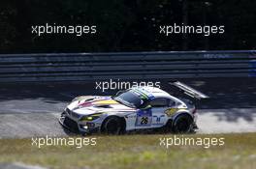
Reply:
[[[138,108],[144,103],[144,99],[141,99],[137,94],[127,91],[120,95],[113,97],[114,100],[133,108]]]

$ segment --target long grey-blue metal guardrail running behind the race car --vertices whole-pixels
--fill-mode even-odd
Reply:
[[[0,82],[189,77],[256,77],[256,50],[0,55]]]

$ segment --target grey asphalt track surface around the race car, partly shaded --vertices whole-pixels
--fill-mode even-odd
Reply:
[[[197,133],[256,132],[256,78],[200,78],[180,81],[207,94],[198,105]],[[168,80],[162,89],[171,92]],[[0,85],[0,138],[64,136],[58,124],[71,99],[81,95],[112,95],[90,83]]]

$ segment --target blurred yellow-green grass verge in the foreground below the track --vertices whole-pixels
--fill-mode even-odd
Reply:
[[[94,136],[91,136],[94,137]],[[90,138],[91,138],[90,137]],[[96,146],[32,146],[28,139],[0,139],[0,162],[22,162],[49,168],[104,169],[255,169],[256,133],[177,135],[181,138],[224,138],[225,145],[160,146],[172,134],[95,136]]]

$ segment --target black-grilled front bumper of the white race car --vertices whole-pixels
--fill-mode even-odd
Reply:
[[[83,122],[80,123],[76,119],[70,117],[65,111],[61,114],[59,118],[59,123],[62,127],[75,132],[75,133],[93,133],[99,132],[100,126],[94,124],[93,122]]]

